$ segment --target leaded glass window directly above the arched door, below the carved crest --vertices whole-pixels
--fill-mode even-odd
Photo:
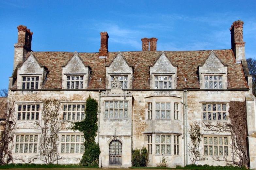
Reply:
[[[128,101],[105,101],[104,109],[106,118],[128,117]]]

